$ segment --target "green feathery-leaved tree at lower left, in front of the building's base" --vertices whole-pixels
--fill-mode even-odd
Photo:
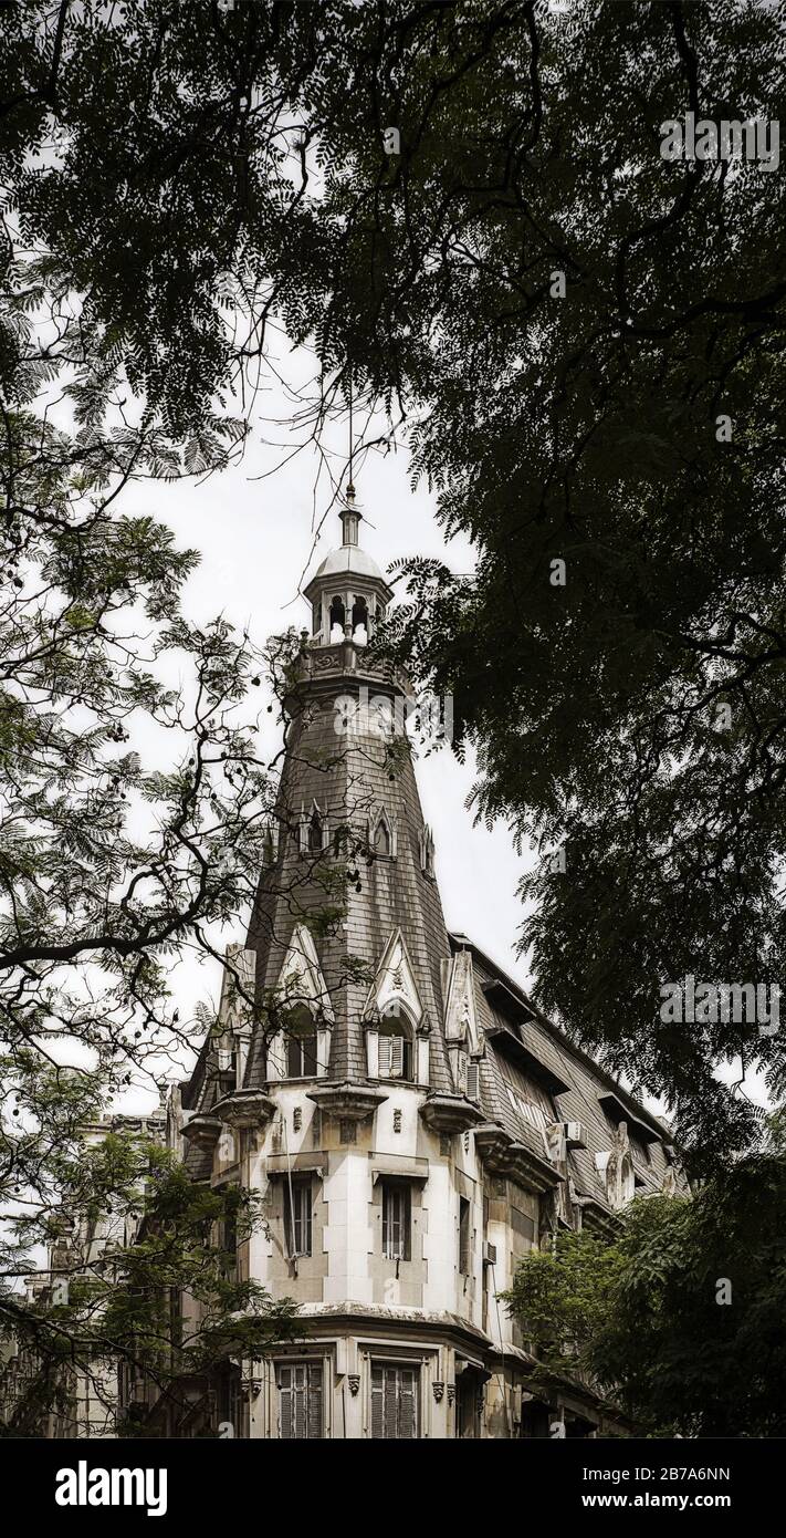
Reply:
[[[25,1366],[6,1384],[0,1375],[0,1435],[40,1436],[51,1416],[86,1435],[77,1420],[86,1387],[94,1435],[150,1435],[120,1413],[118,1369],[183,1413],[212,1369],[259,1360],[295,1337],[296,1306],[273,1303],[236,1272],[236,1243],[263,1221],[255,1193],[195,1183],[166,1147],[129,1130],[83,1140],[52,1163],[51,1272],[31,1303],[5,1284],[0,1292],[12,1369],[20,1353]],[[38,1213],[17,1220],[17,1244],[40,1232]]]

